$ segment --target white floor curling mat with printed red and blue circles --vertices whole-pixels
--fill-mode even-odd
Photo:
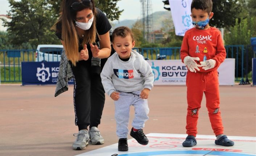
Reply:
[[[135,139],[128,140],[129,150],[117,150],[118,144],[85,152],[77,156],[256,156],[256,137],[228,136],[235,142],[232,147],[219,146],[214,143],[214,135],[197,135],[197,145],[183,147],[185,134],[146,134],[148,145],[141,145]],[[86,151],[86,150],[85,150]]]

